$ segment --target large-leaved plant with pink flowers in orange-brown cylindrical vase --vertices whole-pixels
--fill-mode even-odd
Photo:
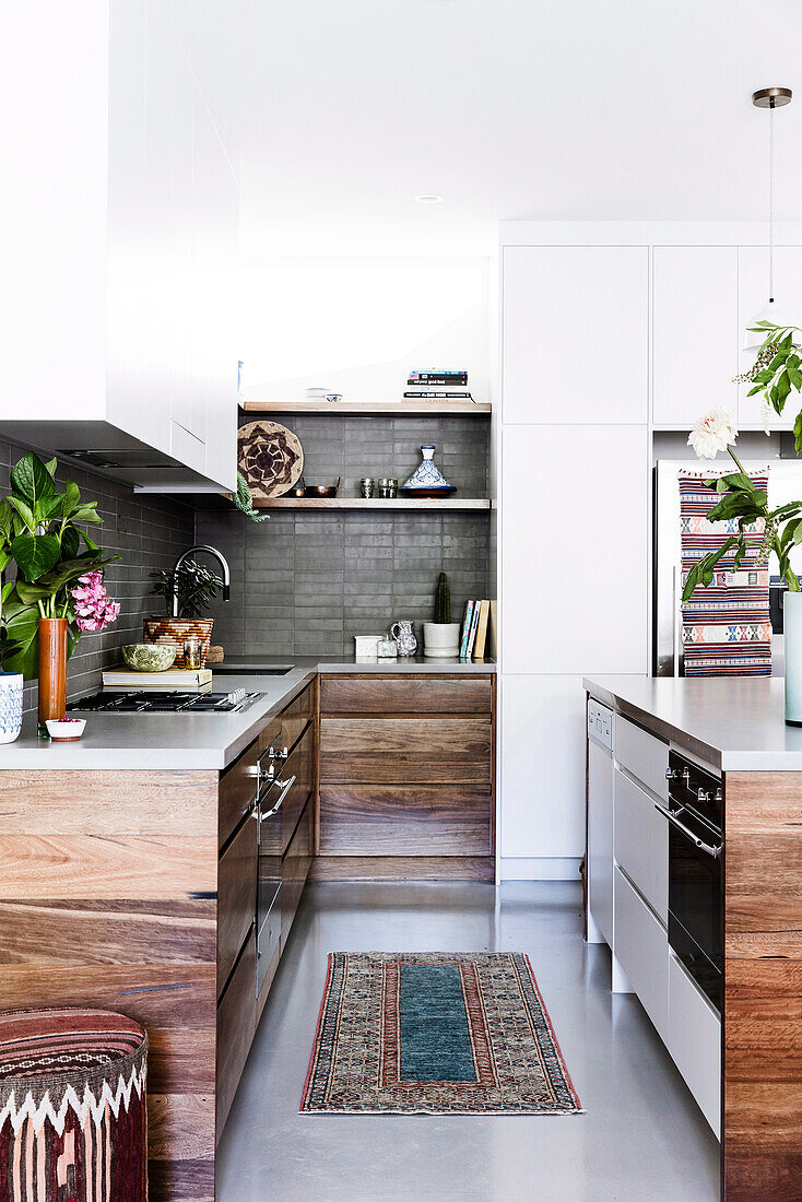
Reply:
[[[71,480],[61,493],[55,468],[55,459],[29,452],[0,501],[0,571],[12,563],[17,571],[0,593],[4,667],[25,680],[38,676],[40,731],[65,714],[66,665],[81,635],[103,630],[120,612],[103,587],[111,559],[84,529],[102,524],[97,501],[82,500]]]

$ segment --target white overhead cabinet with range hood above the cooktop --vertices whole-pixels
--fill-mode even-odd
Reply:
[[[238,188],[178,7],[30,0],[6,26],[0,429],[234,488]]]

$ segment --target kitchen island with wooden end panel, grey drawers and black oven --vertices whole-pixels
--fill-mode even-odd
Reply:
[[[783,680],[583,683],[590,736],[588,889],[590,911],[595,905],[604,916],[600,938],[613,950],[613,988],[637,993],[720,1131],[723,1196],[802,1197],[802,730],[784,722]],[[613,712],[610,739],[599,704]],[[605,744],[607,776],[599,750]],[[672,781],[683,763],[691,780],[697,773],[695,783],[702,781],[700,801],[720,789],[720,1024],[671,939],[672,889],[677,909],[690,898],[696,918],[700,899],[705,906],[711,902],[688,892],[689,882],[699,889],[690,859],[676,856],[673,844],[669,851],[689,821],[682,809],[673,810],[682,823],[671,816]],[[688,805],[690,814],[693,799]],[[593,926],[589,914],[590,933]],[[719,1031],[720,1084],[713,1094],[708,1069],[718,1048],[711,1037],[718,1041]],[[720,1114],[713,1114],[719,1099]]]

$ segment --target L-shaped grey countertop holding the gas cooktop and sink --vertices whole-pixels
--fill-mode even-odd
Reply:
[[[285,676],[263,674],[266,668],[292,664]],[[246,709],[221,714],[109,714],[79,713],[87,728],[78,743],[51,743],[36,733],[36,714],[26,714],[22,734],[0,745],[0,770],[97,769],[216,769],[226,768],[283,710],[317,672],[495,672],[495,665],[458,660],[362,660],[339,656],[286,656],[232,661],[214,668],[216,692],[245,689],[260,697]],[[261,670],[261,672],[260,672]]]

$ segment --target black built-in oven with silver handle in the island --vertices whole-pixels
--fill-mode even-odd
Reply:
[[[669,944],[721,1012],[721,862],[724,791],[720,778],[669,752]]]

